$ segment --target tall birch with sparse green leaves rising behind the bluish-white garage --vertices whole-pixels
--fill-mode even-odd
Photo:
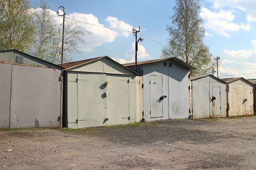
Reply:
[[[199,16],[198,0],[176,0],[172,25],[167,25],[169,43],[162,49],[163,57],[177,57],[191,66],[192,75],[206,74],[213,66],[212,54],[203,43],[205,30]]]

